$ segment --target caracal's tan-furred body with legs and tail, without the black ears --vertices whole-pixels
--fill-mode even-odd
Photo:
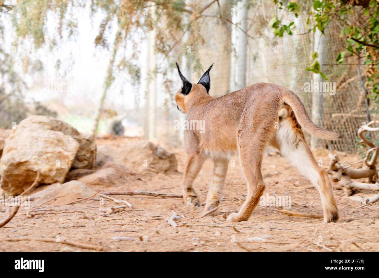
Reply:
[[[203,85],[192,84],[190,93],[179,91],[175,101],[188,114],[187,120],[205,120],[203,133],[184,131],[188,160],[182,193],[188,203],[200,205],[192,184],[204,160],[211,158],[215,167],[204,210],[219,205],[229,155],[238,151],[247,180],[247,198],[239,212],[230,214],[228,220],[247,220],[265,190],[261,163],[263,150],[270,144],[319,190],[324,223],[338,219],[329,178],[305,143],[300,124],[320,138],[337,140],[340,135],[316,126],[296,94],[279,85],[257,83],[222,97],[211,97]]]

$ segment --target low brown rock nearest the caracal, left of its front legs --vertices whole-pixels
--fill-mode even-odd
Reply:
[[[125,145],[117,152],[116,162],[137,172],[170,172],[178,170],[175,154],[149,141]]]

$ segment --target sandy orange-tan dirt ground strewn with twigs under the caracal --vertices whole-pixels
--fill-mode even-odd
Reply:
[[[97,144],[107,144],[117,149],[137,138],[99,139]],[[148,190],[180,194],[180,181],[185,162],[185,151],[173,148],[179,163],[179,173],[141,174],[141,179],[119,187],[92,188],[98,190]],[[325,152],[316,153],[324,168],[329,164]],[[88,199],[64,209],[85,212],[62,212],[26,217],[20,208],[17,215],[0,228],[0,251],[94,251],[56,242],[22,240],[5,241],[5,237],[60,238],[103,247],[103,251],[379,251],[379,204],[359,208],[360,203],[334,190],[340,219],[337,223],[323,224],[322,219],[281,215],[274,209],[284,207],[260,206],[248,221],[233,223],[225,216],[237,212],[246,194],[246,182],[238,157],[232,157],[235,166],[229,165],[224,198],[217,217],[199,216],[202,210],[186,206],[179,198],[161,198],[144,195],[115,195],[133,205],[132,211],[99,216],[99,207],[115,206],[98,198]],[[359,160],[358,155],[340,155],[340,160]],[[360,165],[357,163],[356,165]],[[211,180],[213,163],[205,162],[194,188],[202,201]],[[301,214],[322,214],[318,191],[302,177],[285,159],[265,155],[262,173],[266,185],[264,195],[291,196],[291,210]],[[369,195],[369,191],[358,191]],[[372,192],[371,192],[372,193]],[[31,202],[33,205],[33,202]],[[48,207],[49,204],[46,204]],[[63,206],[60,207],[62,209]],[[179,214],[178,226],[168,225],[172,210]],[[5,217],[0,207],[0,218]],[[234,226],[234,228],[233,228]],[[259,227],[259,228],[253,228]],[[124,237],[124,240],[112,239]]]

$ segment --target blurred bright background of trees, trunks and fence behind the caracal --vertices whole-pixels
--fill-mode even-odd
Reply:
[[[180,146],[174,101],[215,63],[211,96],[282,85],[356,152],[377,113],[379,4],[276,0],[0,0],[0,127],[53,116],[80,132]],[[321,93],[307,83],[328,82]],[[331,82],[331,83],[329,83]],[[333,88],[333,89],[332,89]],[[374,135],[372,135],[374,136]],[[375,140],[375,138],[373,138]]]

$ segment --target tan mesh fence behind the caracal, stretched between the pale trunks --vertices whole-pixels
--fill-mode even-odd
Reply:
[[[263,4],[264,3],[264,4]],[[263,6],[264,5],[264,6]],[[211,13],[212,11],[210,11]],[[217,13],[217,9],[213,11]],[[298,94],[309,115],[312,115],[312,92],[305,90],[305,84],[312,83],[313,72],[305,69],[312,63],[315,49],[315,34],[305,29],[306,16],[295,18],[282,11],[280,17],[284,24],[295,22],[294,35],[274,36],[273,29],[267,22],[275,14],[271,2],[255,1],[248,13],[247,51],[246,51],[246,86],[257,82],[269,82],[281,85]],[[287,22],[286,22],[287,21]],[[343,64],[335,58],[343,49],[345,39],[340,38],[341,27],[331,22],[326,31],[324,44],[323,71],[327,82],[335,85],[333,94],[324,93],[323,126],[342,135],[339,141],[324,141],[324,147],[338,151],[356,152],[357,130],[367,121],[365,92],[362,89],[357,73],[357,61],[348,58]],[[230,92],[230,57],[231,25],[211,18],[202,24],[201,34],[204,43],[200,46],[200,60],[204,69],[212,63],[215,66],[210,72],[212,96],[222,96]],[[299,35],[301,34],[301,35]],[[366,81],[367,66],[360,66],[363,83]],[[191,82],[197,82],[200,76],[191,74]],[[180,84],[174,84],[179,89]],[[173,92],[174,93],[174,92]],[[183,130],[174,129],[174,121],[180,120],[180,113],[171,97],[171,105],[157,108],[157,138],[163,145],[182,143]],[[305,132],[309,142],[310,135]]]

